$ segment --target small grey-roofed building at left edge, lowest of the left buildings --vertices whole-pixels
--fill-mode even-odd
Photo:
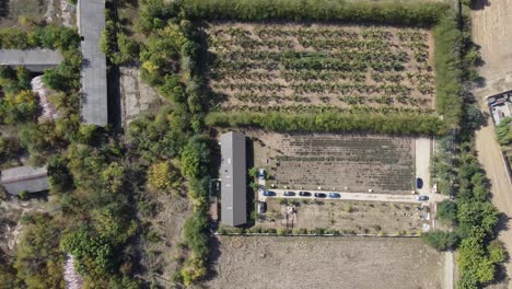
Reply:
[[[3,170],[0,184],[11,195],[19,195],[21,192],[37,193],[50,187],[46,166],[16,166]]]

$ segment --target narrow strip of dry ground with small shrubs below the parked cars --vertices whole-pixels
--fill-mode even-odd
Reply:
[[[294,208],[294,213],[288,212]],[[280,199],[267,199],[267,221],[257,226],[276,229],[340,230],[344,233],[414,234],[428,223],[420,204],[347,201],[347,200],[296,200],[281,204]],[[288,218],[287,218],[288,216]],[[268,221],[272,219],[275,221]]]

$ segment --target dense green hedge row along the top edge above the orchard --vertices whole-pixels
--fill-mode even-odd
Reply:
[[[186,0],[194,20],[288,20],[377,22],[429,26],[449,9],[440,2],[353,2],[333,0]]]

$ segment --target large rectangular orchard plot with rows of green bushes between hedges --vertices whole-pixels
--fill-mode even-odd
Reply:
[[[207,34],[213,111],[433,112],[427,30],[216,23]]]

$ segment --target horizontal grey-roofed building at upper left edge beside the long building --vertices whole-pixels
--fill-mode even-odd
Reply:
[[[43,72],[62,62],[60,53],[50,49],[0,49],[0,66],[24,66],[34,72]]]

